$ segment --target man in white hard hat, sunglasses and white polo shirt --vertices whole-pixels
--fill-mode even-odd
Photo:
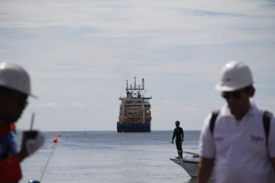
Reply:
[[[204,121],[197,182],[275,182],[275,118],[252,100],[253,83],[243,62],[223,67],[215,89],[226,103]]]

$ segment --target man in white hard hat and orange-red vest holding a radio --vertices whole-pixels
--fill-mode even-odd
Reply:
[[[23,133],[17,153],[11,125],[21,116],[28,104],[31,83],[28,73],[20,66],[0,64],[0,182],[18,182],[22,177],[20,162],[33,154],[44,142],[39,131]]]

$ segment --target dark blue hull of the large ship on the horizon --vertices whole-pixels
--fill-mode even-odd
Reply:
[[[151,123],[124,123],[117,124],[117,131],[126,132],[151,132]]]

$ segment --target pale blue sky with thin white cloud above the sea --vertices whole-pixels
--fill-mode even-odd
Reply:
[[[145,78],[151,130],[201,130],[226,101],[231,60],[248,64],[254,101],[275,113],[274,1],[0,1],[0,62],[29,72],[17,129],[116,131],[126,80]]]

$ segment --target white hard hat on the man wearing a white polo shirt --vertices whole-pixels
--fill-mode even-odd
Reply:
[[[221,71],[221,78],[215,89],[231,92],[254,82],[250,68],[243,62],[234,60],[226,64]]]

